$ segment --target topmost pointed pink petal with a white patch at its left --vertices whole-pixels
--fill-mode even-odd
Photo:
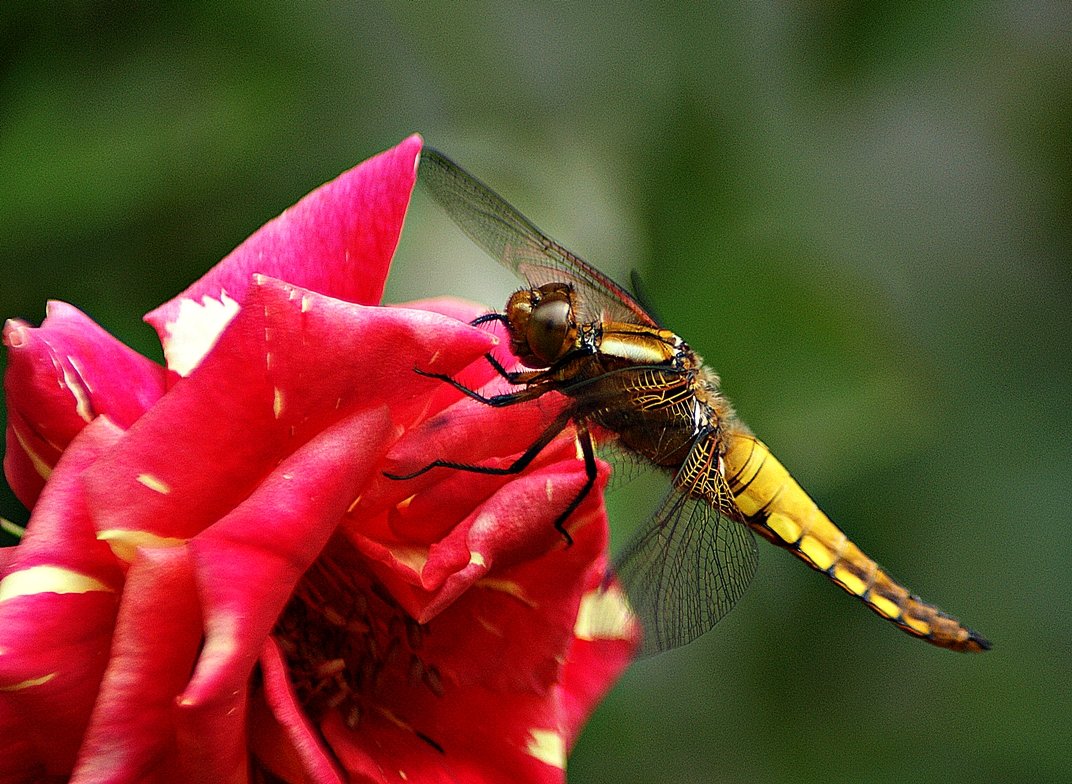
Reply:
[[[361,305],[383,296],[416,179],[420,136],[358,164],[257,230],[146,316],[167,366],[187,375],[234,317],[254,273]]]

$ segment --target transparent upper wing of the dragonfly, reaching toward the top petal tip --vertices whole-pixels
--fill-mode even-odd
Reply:
[[[627,291],[545,235],[438,150],[426,147],[420,153],[418,179],[470,239],[530,285],[571,283],[581,321],[657,326]]]

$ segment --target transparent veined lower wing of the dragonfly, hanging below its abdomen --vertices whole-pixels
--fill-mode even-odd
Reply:
[[[678,648],[710,631],[744,594],[759,562],[751,531],[721,514],[710,494],[691,495],[687,487],[679,487],[679,479],[614,563],[644,630],[641,656]],[[699,477],[696,488],[711,482]],[[728,488],[725,492],[729,498]]]

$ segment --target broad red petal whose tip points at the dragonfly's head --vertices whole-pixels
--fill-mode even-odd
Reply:
[[[386,405],[407,424],[437,383],[413,364],[453,372],[490,340],[434,314],[364,308],[259,279],[197,372],[87,475],[101,535],[117,551],[145,536],[193,536],[333,421]]]

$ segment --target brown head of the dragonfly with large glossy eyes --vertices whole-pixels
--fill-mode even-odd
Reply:
[[[526,367],[547,368],[577,345],[574,289],[546,283],[515,292],[506,304],[510,350]]]

